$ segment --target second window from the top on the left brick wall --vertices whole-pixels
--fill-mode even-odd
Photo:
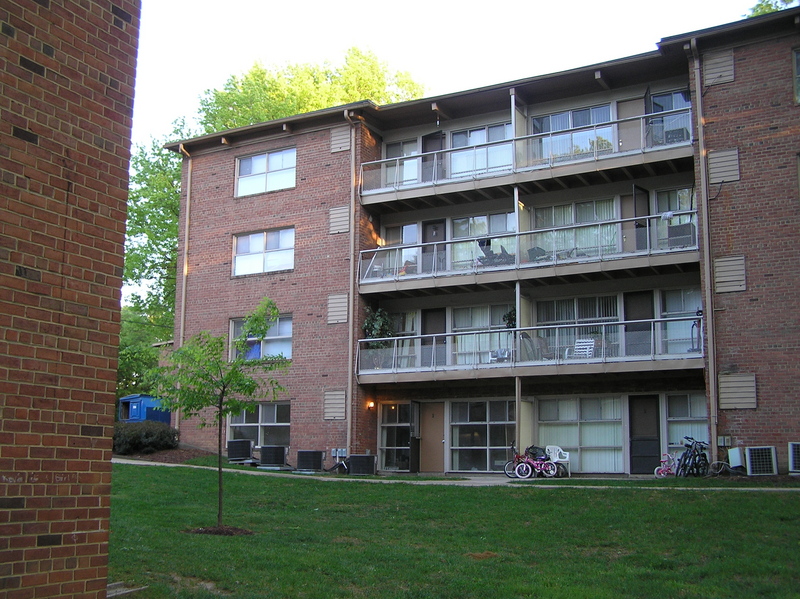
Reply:
[[[234,244],[234,276],[294,268],[293,228],[237,235]]]

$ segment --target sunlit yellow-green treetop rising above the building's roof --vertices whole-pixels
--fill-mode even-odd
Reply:
[[[243,75],[231,76],[222,89],[203,94],[199,121],[206,133],[213,133],[360,100],[390,104],[422,94],[423,87],[408,73],[391,72],[372,52],[350,48],[340,67],[268,69],[256,63]]]

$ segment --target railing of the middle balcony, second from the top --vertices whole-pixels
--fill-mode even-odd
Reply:
[[[494,237],[363,250],[359,283],[368,286],[696,250],[696,218],[696,211],[667,212]]]

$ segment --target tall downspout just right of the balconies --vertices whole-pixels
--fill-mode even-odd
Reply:
[[[702,223],[703,223],[703,268],[706,273],[706,284],[704,289],[705,304],[705,329],[708,347],[708,408],[711,415],[710,432],[712,461],[717,459],[717,424],[718,424],[718,397],[717,397],[717,350],[714,330],[714,277],[711,264],[711,231],[709,227],[709,201],[708,201],[708,163],[706,161],[707,148],[703,115],[703,87],[702,74],[700,72],[700,52],[697,49],[697,38],[692,38],[690,42],[692,49],[693,72],[695,96],[697,99],[697,137],[698,152],[700,156],[700,194],[703,204]]]

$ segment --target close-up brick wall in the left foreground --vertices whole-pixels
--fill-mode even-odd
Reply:
[[[139,0],[0,3],[0,595],[105,597]]]

